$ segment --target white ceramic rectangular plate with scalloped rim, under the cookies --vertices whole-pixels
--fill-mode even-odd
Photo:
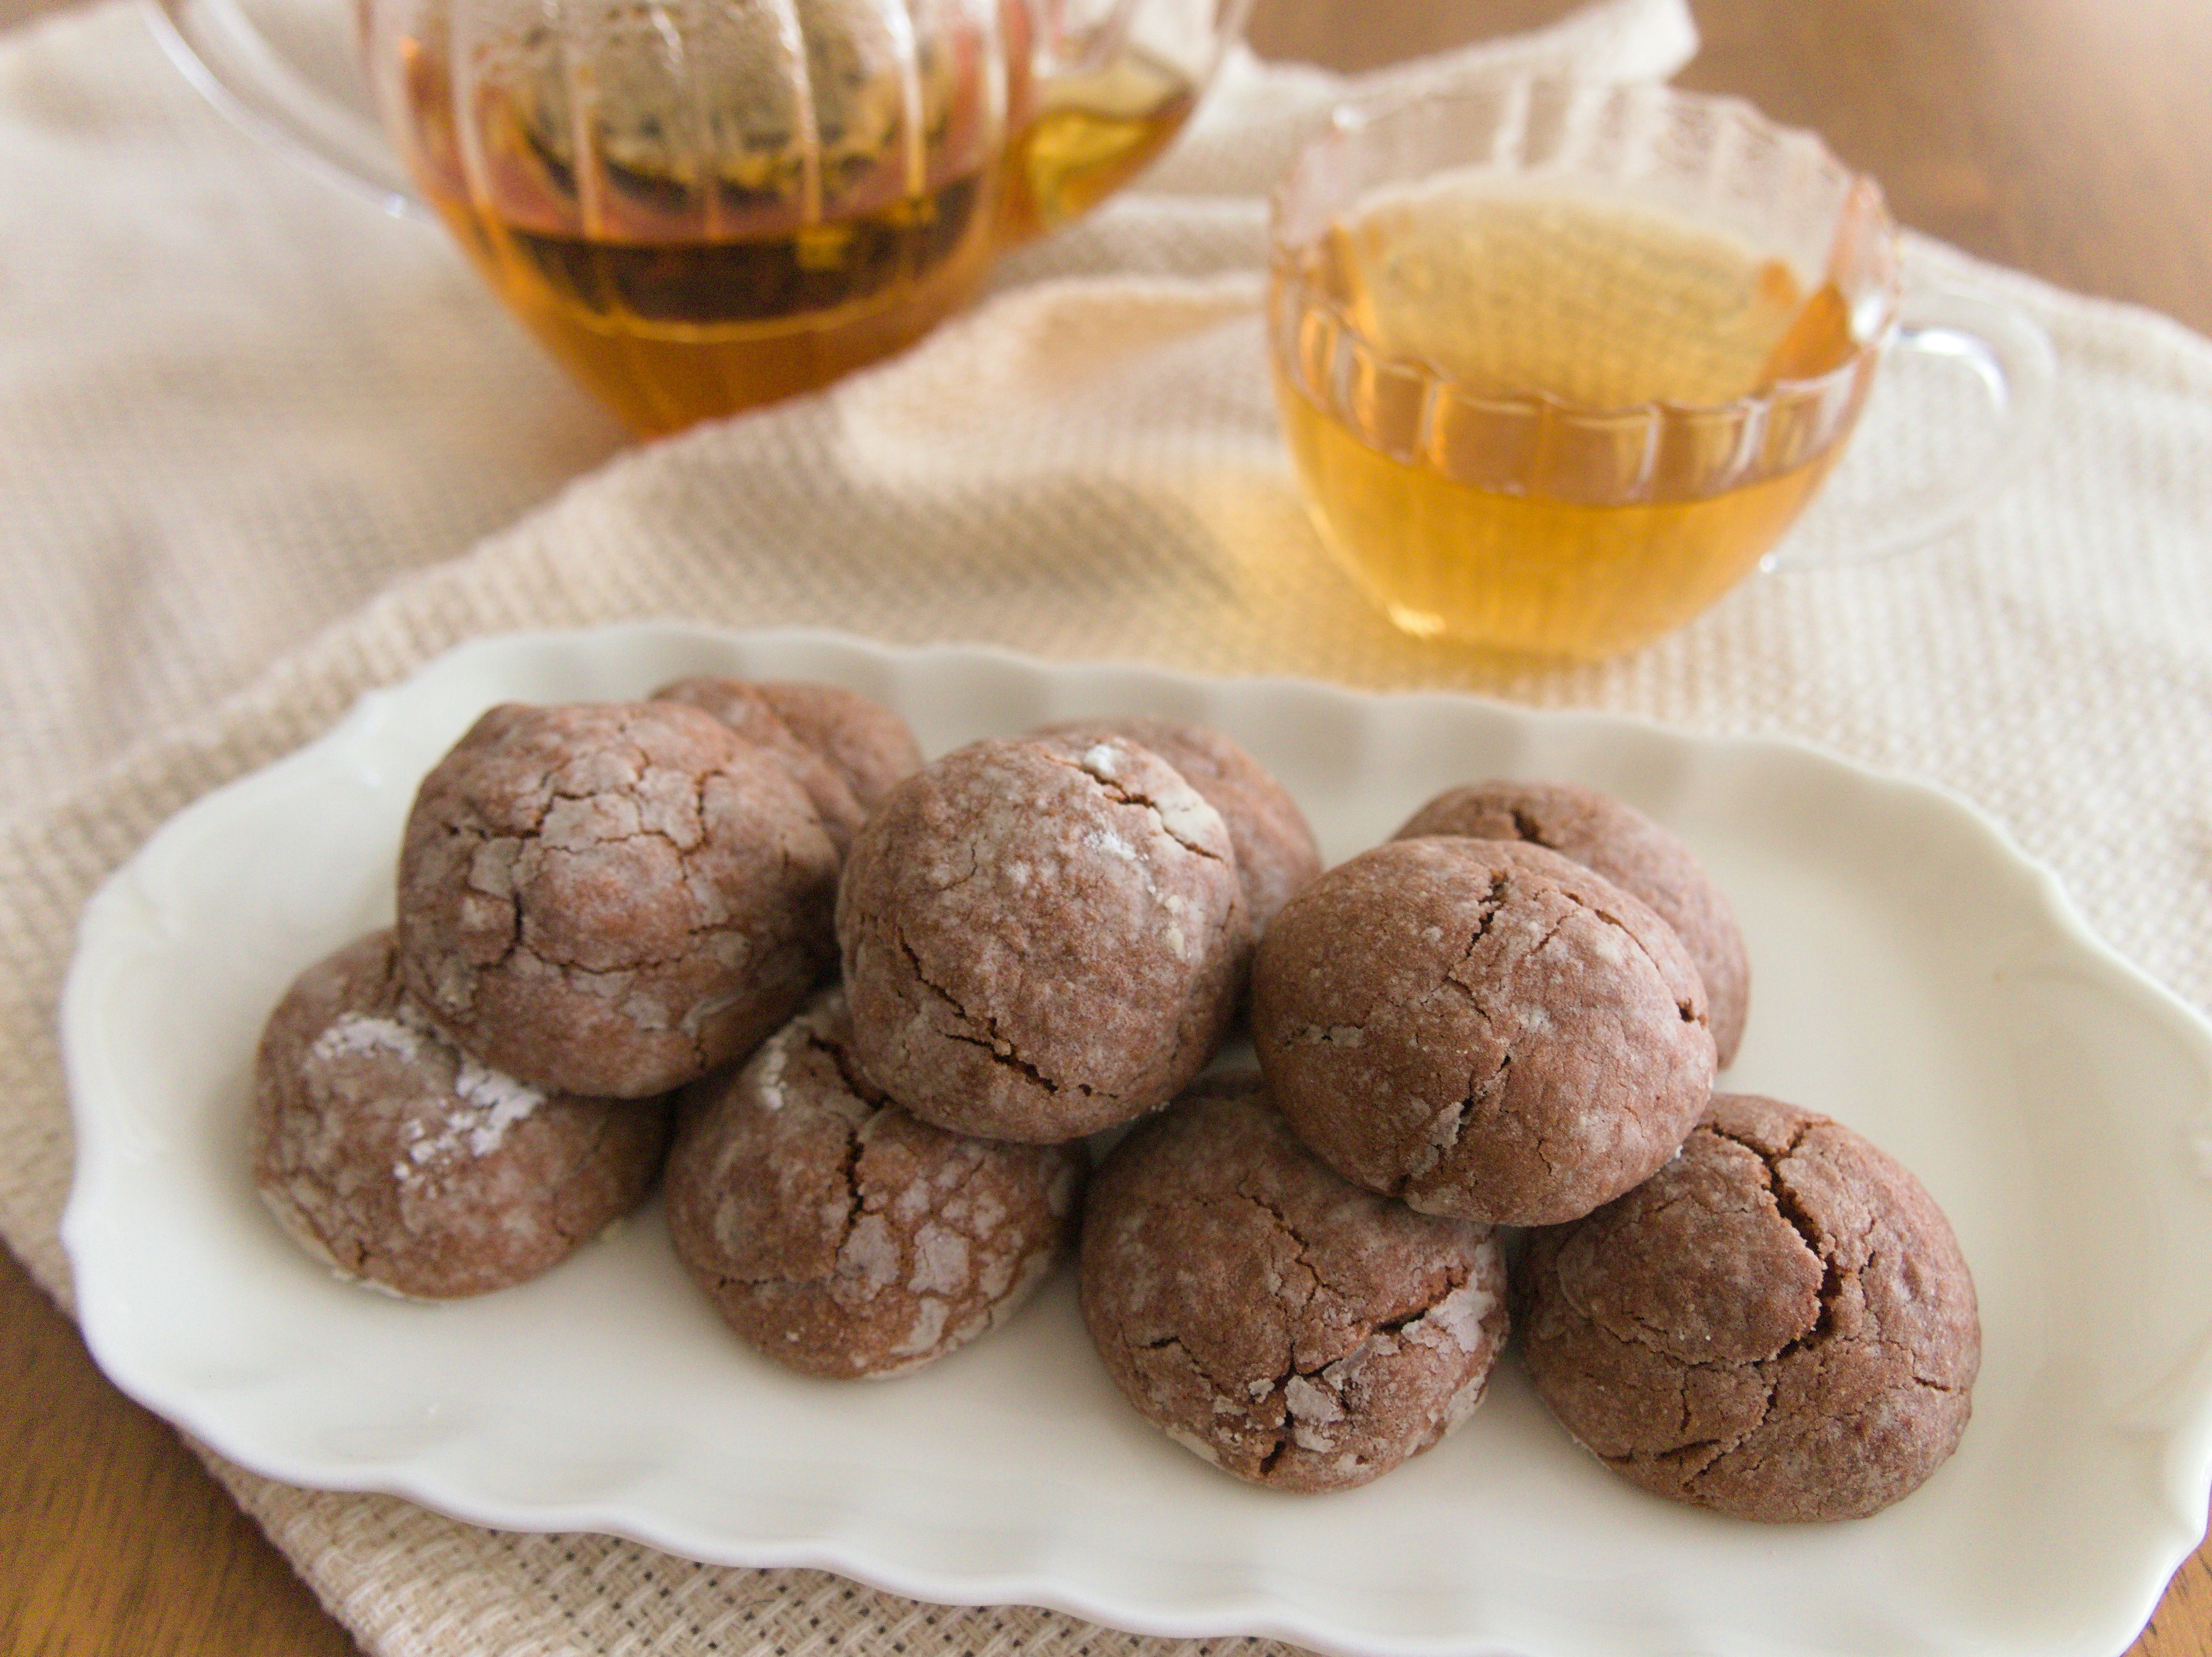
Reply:
[[[1290,1498],[1144,1425],[1066,1279],[885,1385],[739,1347],[653,1212],[480,1301],[336,1283],[246,1175],[261,1020],[301,967],[389,918],[416,779],[484,706],[703,670],[849,684],[929,752],[1086,712],[1201,719],[1274,768],[1332,858],[1484,774],[1575,779],[1672,825],[1750,938],[1728,1084],[1869,1133],[1958,1228],[1986,1334],[1964,1447],[1874,1520],[1743,1524],[1606,1473],[1509,1361],[1429,1456]],[[2205,1529],[2212,1029],[2095,942],[1975,810],[1790,743],[823,635],[484,639],[168,823],[86,909],[62,1022],[64,1239],[93,1352],[124,1392],[296,1484],[1391,1657],[2104,1657]]]

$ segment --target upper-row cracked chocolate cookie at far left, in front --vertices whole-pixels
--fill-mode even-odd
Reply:
[[[710,715],[509,704],[416,792],[400,962],[487,1064],[644,1097],[790,1018],[830,962],[834,892],[805,792]]]

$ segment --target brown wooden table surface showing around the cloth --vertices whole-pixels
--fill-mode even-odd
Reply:
[[[0,0],[0,20],[27,0]],[[38,0],[29,0],[38,4]],[[2212,0],[1692,0],[1681,84],[1812,126],[1898,217],[2212,332]],[[1259,0],[1254,44],[1345,69],[1571,0]],[[354,1650],[177,1436],[0,1252],[0,1653]],[[2212,1549],[2135,1657],[2212,1655]]]

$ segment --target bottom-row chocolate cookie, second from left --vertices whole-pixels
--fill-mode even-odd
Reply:
[[[701,1095],[668,1157],[668,1237],[730,1327],[792,1369],[942,1358],[1011,1316],[1073,1237],[1084,1148],[916,1122],[860,1077],[838,991]]]

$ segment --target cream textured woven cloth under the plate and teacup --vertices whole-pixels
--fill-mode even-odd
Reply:
[[[1674,0],[1621,0],[1383,80],[1668,75],[1690,46]],[[1256,192],[1340,91],[1239,60],[1139,192],[914,354],[624,454],[440,564],[617,434],[434,235],[228,133],[128,11],[0,46],[0,752],[18,779],[0,1230],[40,1281],[66,1303],[53,1013],[88,892],[361,690],[515,626],[814,624],[1790,732],[1971,796],[2124,953],[2212,1000],[2212,343],[1913,241],[1913,281],[2008,296],[2057,343],[2048,442],[2011,491],[1902,560],[1752,580],[1624,661],[1484,679],[1396,635],[1327,562],[1276,438]],[[1885,369],[1796,544],[1849,549],[1854,502],[1951,465],[1971,427],[1969,383]],[[374,1653],[1168,1644],[210,1465]]]

